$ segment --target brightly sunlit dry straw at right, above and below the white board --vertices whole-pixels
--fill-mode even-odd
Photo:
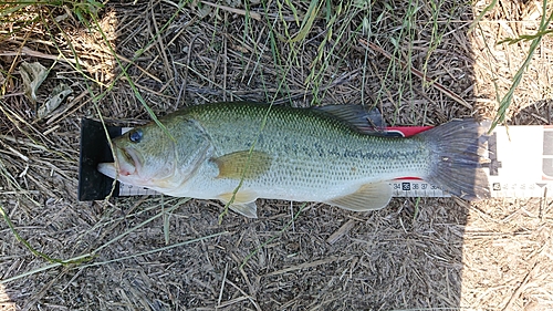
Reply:
[[[474,29],[474,96],[491,117],[525,59],[531,42],[497,44],[508,38],[533,34],[541,3],[501,2]],[[482,6],[477,6],[483,9]],[[551,12],[551,8],[549,9]],[[514,92],[509,124],[552,124],[553,40],[545,37]],[[500,310],[553,308],[550,199],[504,199],[479,204],[469,214],[463,241],[462,303]],[[470,287],[466,287],[465,282]]]

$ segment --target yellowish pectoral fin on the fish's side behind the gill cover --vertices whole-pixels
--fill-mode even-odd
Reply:
[[[253,179],[269,170],[272,158],[264,152],[242,151],[212,160],[219,167],[218,178]]]

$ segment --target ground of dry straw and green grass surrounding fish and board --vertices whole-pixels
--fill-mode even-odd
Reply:
[[[149,120],[140,101],[157,115],[254,100],[363,103],[389,125],[493,117],[531,44],[499,42],[534,34],[541,3],[500,0],[471,28],[489,3],[137,0],[96,20],[91,2],[1,15],[0,310],[553,310],[551,198],[261,200],[258,219],[221,224],[218,201],[76,198],[81,118],[133,126]],[[552,124],[552,48],[508,124]],[[51,70],[36,103],[23,61]],[[39,120],[61,83],[73,93]]]

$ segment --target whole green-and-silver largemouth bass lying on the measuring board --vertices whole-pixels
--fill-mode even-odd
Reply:
[[[382,209],[389,180],[401,177],[467,200],[490,196],[481,123],[453,120],[406,138],[372,120],[362,105],[195,105],[159,117],[165,128],[149,123],[114,138],[114,162],[97,169],[169,196],[218,199],[250,218],[258,198]]]

